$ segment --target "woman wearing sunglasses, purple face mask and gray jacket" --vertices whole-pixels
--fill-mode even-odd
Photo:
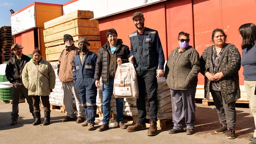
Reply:
[[[189,45],[189,34],[179,33],[179,47],[172,50],[165,66],[166,83],[171,89],[173,129],[170,134],[184,132],[193,134],[195,127],[195,94],[197,74],[200,72],[198,52]]]

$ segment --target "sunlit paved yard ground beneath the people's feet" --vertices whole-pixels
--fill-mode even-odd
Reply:
[[[107,131],[99,132],[95,125],[94,131],[88,131],[75,121],[61,123],[65,113],[51,112],[51,124],[33,126],[32,115],[29,113],[28,104],[19,104],[18,124],[11,126],[12,105],[0,102],[0,143],[218,143],[218,144],[246,144],[250,141],[248,136],[255,129],[253,117],[249,108],[236,108],[236,139],[226,138],[227,133],[215,134],[219,126],[219,119],[215,106],[202,106],[196,104],[196,133],[168,134],[169,128],[158,130],[154,137],[147,136],[147,130],[138,132],[126,132],[118,127],[112,127]],[[41,109],[43,116],[43,109]],[[43,121],[44,118],[41,117]],[[132,125],[128,124],[127,125]]]

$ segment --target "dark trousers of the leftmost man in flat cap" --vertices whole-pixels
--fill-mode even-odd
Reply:
[[[12,120],[18,120],[19,116],[19,102],[20,102],[20,93],[23,93],[25,98],[28,101],[29,111],[33,115],[33,100],[31,96],[28,96],[28,89],[21,83],[14,83],[12,86]]]

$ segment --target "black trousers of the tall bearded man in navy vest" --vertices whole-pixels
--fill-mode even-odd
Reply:
[[[144,124],[147,116],[145,88],[148,95],[150,121],[157,122],[157,79],[156,70],[137,72],[139,97],[137,99],[138,124]]]

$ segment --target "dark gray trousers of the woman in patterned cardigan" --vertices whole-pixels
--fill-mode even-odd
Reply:
[[[211,93],[220,124],[227,125],[228,128],[234,129],[236,123],[236,101],[225,104],[221,91],[211,90]]]

